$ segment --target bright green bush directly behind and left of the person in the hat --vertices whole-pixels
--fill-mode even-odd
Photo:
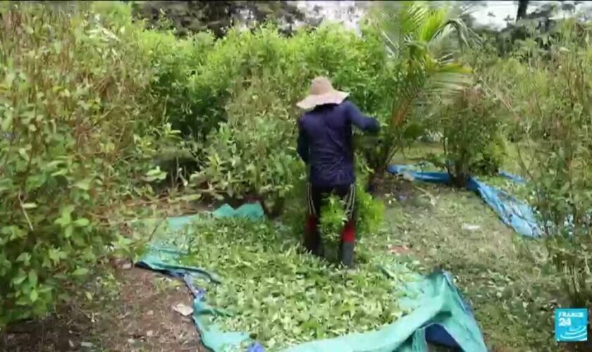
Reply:
[[[213,120],[219,125],[206,139],[204,170],[193,177],[194,184],[206,183],[211,194],[222,198],[264,199],[269,212],[277,214],[303,172],[294,148],[296,119],[302,113],[295,103],[314,76],[328,75],[358,96],[362,107],[376,109],[380,91],[366,88],[378,84],[374,81],[385,58],[380,46],[378,39],[366,41],[335,25],[290,38],[270,25],[254,32],[230,31],[195,76],[193,89],[209,96],[204,98],[209,116],[218,116]]]

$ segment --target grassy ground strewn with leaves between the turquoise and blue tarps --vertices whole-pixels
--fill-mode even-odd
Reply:
[[[522,259],[520,239],[467,191],[419,185],[391,201],[386,218],[400,256],[417,269],[452,272],[492,351],[557,351],[554,283]],[[388,203],[388,201],[387,201]]]

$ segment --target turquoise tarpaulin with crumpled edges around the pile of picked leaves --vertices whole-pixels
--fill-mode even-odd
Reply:
[[[263,218],[264,213],[259,203],[246,204],[237,210],[223,206],[214,211],[215,217],[241,216]],[[174,236],[178,230],[193,221],[199,221],[199,215],[168,218],[161,222],[166,227],[165,235]],[[150,221],[150,220],[147,220]],[[154,220],[152,220],[154,221]],[[170,230],[170,231],[169,231]],[[166,241],[165,241],[166,242]],[[203,268],[178,265],[178,258],[183,253],[178,249],[163,244],[162,239],[155,239],[140,258],[137,265],[143,268],[164,272],[173,277],[182,278],[194,296],[193,320],[202,343],[210,351],[240,351],[240,346],[247,352],[263,352],[264,348],[257,341],[251,341],[247,332],[224,332],[207,319],[212,314],[226,314],[223,309],[206,303],[207,293],[193,284],[193,277],[204,277],[211,282],[224,284],[223,280]],[[388,276],[388,269],[381,268]],[[426,352],[427,343],[442,344],[467,352],[485,352],[481,330],[474,320],[467,301],[452,282],[448,272],[433,272],[427,277],[416,274],[416,279],[405,287],[405,297],[400,298],[400,306],[411,313],[390,325],[372,332],[354,333],[333,339],[310,341],[288,348],[290,352]],[[393,299],[394,296],[393,296]]]

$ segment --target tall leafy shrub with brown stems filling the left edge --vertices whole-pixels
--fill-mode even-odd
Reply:
[[[100,209],[142,175],[159,126],[147,111],[151,71],[137,27],[87,4],[1,11],[4,325],[43,314],[104,253],[112,233]]]

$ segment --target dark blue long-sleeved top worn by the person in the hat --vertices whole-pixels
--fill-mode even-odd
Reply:
[[[298,121],[300,158],[310,165],[310,182],[336,187],[355,182],[352,124],[364,132],[378,132],[374,118],[364,116],[351,101],[317,106]]]

